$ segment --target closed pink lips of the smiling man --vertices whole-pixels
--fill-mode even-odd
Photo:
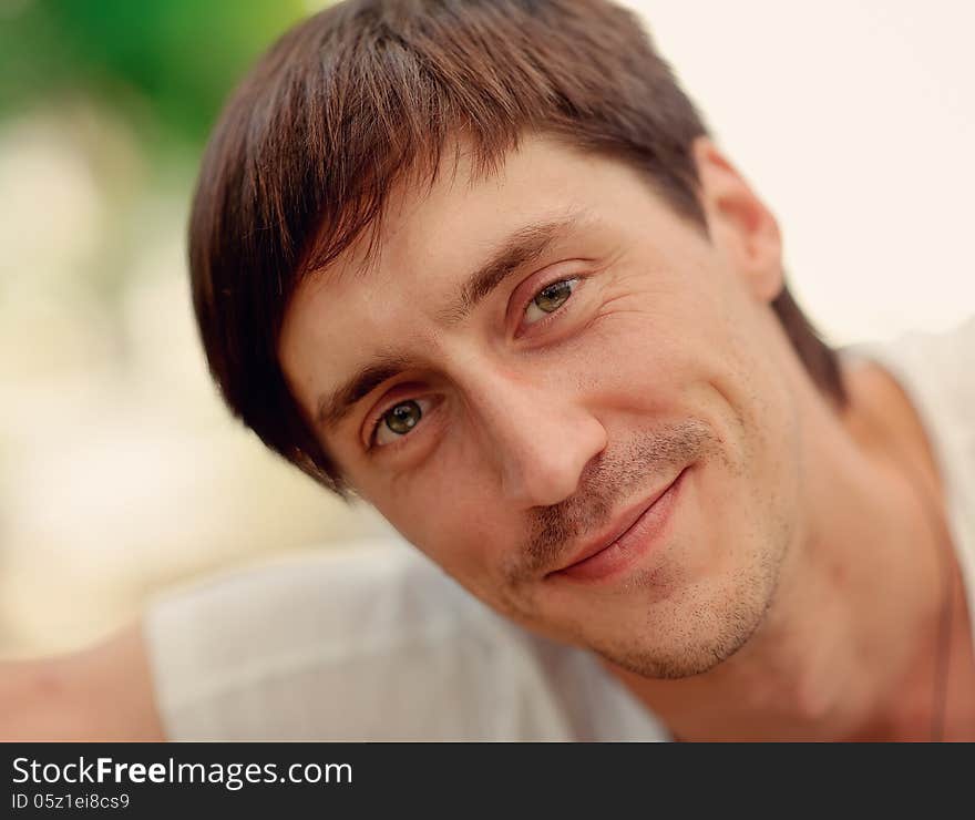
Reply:
[[[603,534],[583,545],[568,564],[550,572],[545,580],[602,581],[647,554],[661,540],[673,517],[689,469],[684,468],[669,484],[623,512]]]

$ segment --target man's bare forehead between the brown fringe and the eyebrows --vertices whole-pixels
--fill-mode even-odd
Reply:
[[[445,151],[431,186],[391,192],[368,255],[363,237],[291,299],[279,357],[311,420],[317,399],[376,355],[432,350],[443,307],[486,256],[526,226],[599,218],[635,174],[555,140],[526,137],[490,175]]]

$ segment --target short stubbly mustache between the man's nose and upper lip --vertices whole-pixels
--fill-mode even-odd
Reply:
[[[658,489],[717,447],[705,422],[688,419],[604,451],[586,464],[575,495],[535,513],[527,542],[507,567],[509,581],[516,584],[551,570],[579,540],[608,526],[635,496]]]

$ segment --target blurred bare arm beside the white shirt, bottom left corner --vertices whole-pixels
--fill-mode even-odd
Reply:
[[[165,740],[138,622],[68,655],[0,663],[0,740]]]

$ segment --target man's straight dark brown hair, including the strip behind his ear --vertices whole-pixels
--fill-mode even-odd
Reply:
[[[289,298],[374,229],[394,182],[435,172],[449,137],[490,173],[530,129],[627,161],[707,235],[691,154],[707,127],[636,17],[605,0],[347,0],[287,32],[227,103],[189,224],[209,369],[235,416],[340,496],[278,362]],[[788,289],[773,308],[842,406],[834,352]]]

